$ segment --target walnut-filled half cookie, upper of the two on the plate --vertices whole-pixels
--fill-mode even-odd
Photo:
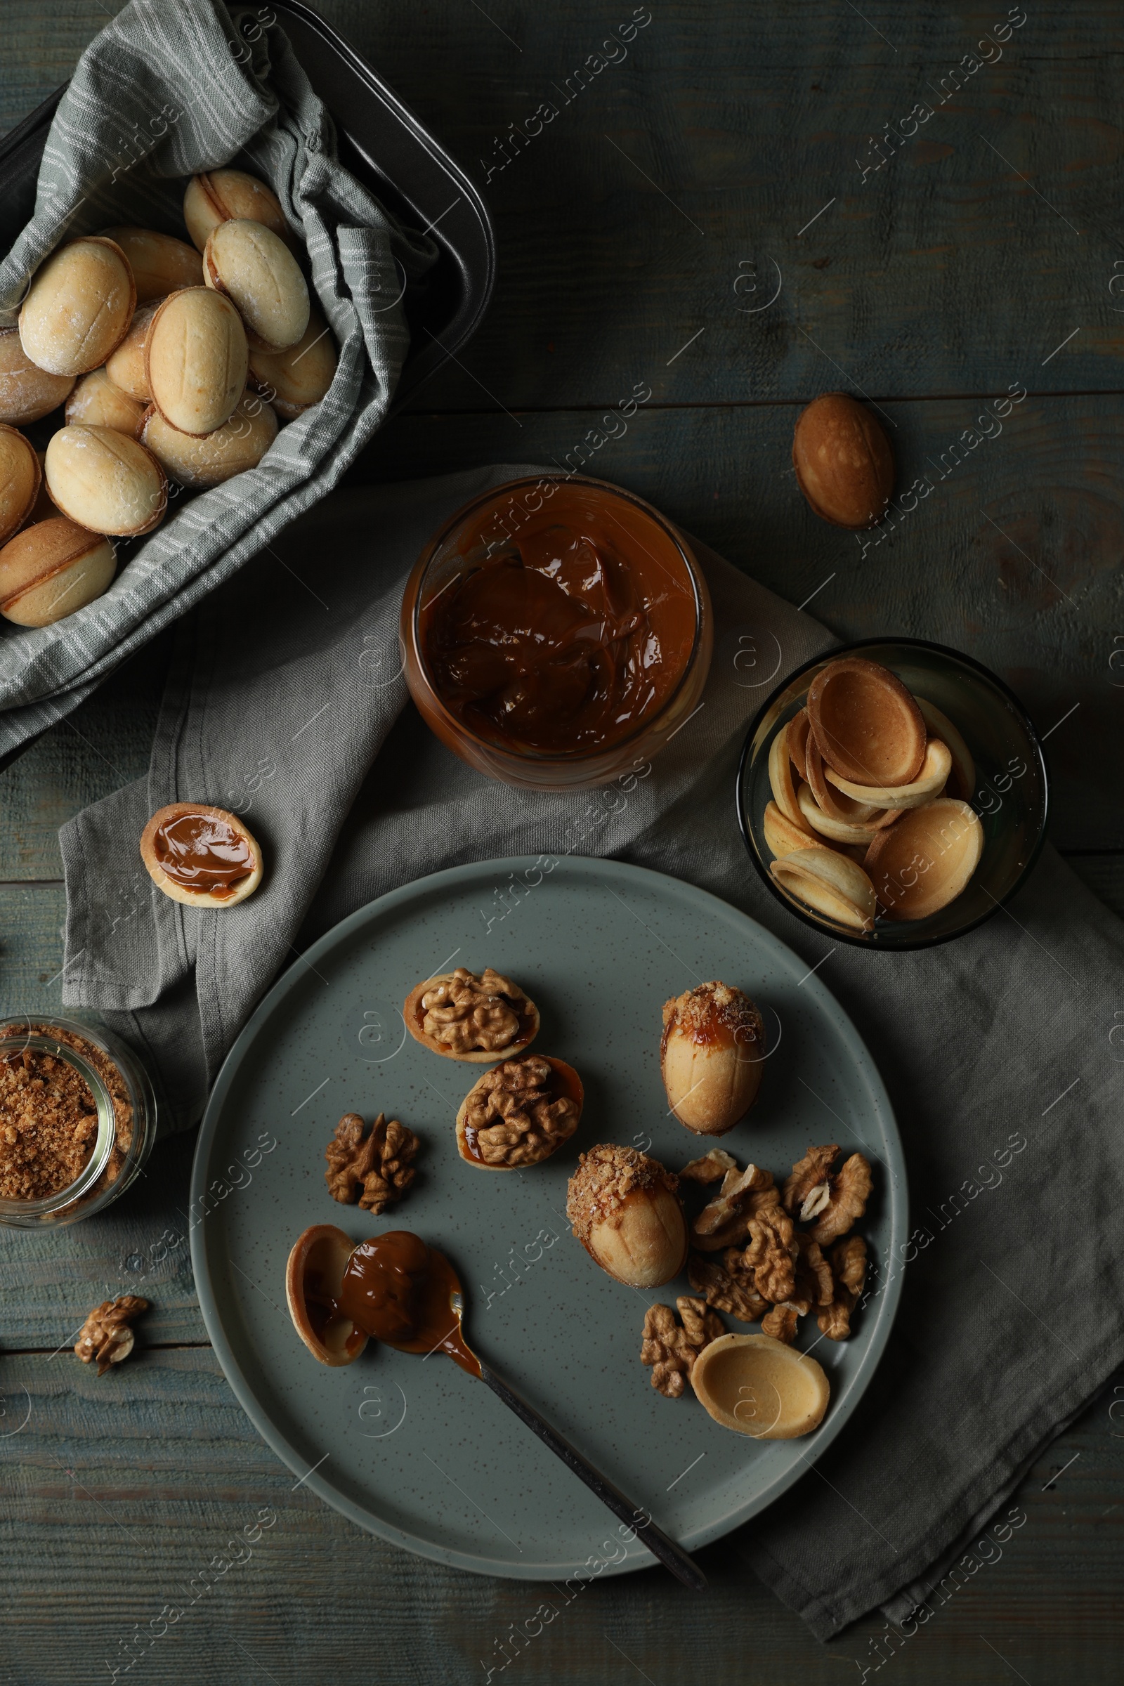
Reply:
[[[409,1035],[431,1054],[489,1066],[531,1047],[539,1010],[517,983],[458,966],[416,985],[403,1005]]]

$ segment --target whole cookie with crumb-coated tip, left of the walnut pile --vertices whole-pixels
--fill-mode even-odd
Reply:
[[[688,1258],[679,1179],[659,1160],[600,1143],[570,1179],[566,1217],[595,1264],[629,1288],[659,1288]]]

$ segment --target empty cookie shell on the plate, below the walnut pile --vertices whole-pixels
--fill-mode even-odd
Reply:
[[[831,1399],[822,1366],[772,1335],[711,1340],[694,1361],[691,1386],[716,1423],[753,1440],[811,1435]]]

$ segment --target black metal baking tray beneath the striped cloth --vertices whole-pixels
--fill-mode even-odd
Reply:
[[[271,10],[315,93],[332,113],[344,164],[403,224],[428,233],[440,256],[406,287],[409,352],[391,415],[475,332],[492,293],[495,236],[484,199],[460,165],[376,71],[303,0]],[[57,88],[0,142],[0,250],[35,209],[39,160]]]

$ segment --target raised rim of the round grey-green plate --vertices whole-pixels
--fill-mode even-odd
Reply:
[[[415,878],[411,883],[404,883],[398,890],[389,890],[374,902],[367,902],[366,907],[357,909],[357,912],[349,914],[347,919],[342,919],[332,927],[332,931],[327,931],[310,949],[307,949],[302,956],[300,966],[290,966],[288,971],[278,978],[234,1042],[234,1047],[222,1062],[222,1069],[219,1071],[211,1091],[207,1109],[204,1113],[202,1125],[199,1126],[199,1141],[195,1145],[195,1157],[192,1162],[192,1205],[195,1200],[202,1199],[211,1180],[211,1152],[216,1146],[216,1138],[222,1126],[224,1104],[238,1079],[241,1064],[251,1054],[258,1039],[263,1034],[268,1034],[270,1020],[297,983],[305,978],[308,966],[315,966],[317,961],[327,959],[335,948],[349,942],[356,932],[362,931],[369,924],[376,924],[386,914],[393,914],[415,900],[425,899],[431,904],[433,897],[440,895],[442,890],[458,890],[463,883],[468,883],[480,873],[489,875],[492,882],[504,882],[507,873],[526,870],[534,865],[536,858],[538,856],[511,855],[502,860],[467,862],[460,867],[450,867],[445,872],[430,873],[425,878]],[[888,1256],[893,1261],[893,1268],[888,1273],[885,1288],[870,1302],[871,1307],[876,1307],[876,1313],[873,1327],[866,1335],[866,1350],[863,1352],[849,1386],[834,1403],[827,1423],[816,1430],[816,1435],[811,1436],[814,1440],[812,1453],[802,1455],[792,1463],[790,1469],[780,1472],[752,1499],[733,1506],[730,1511],[713,1516],[709,1522],[693,1529],[679,1541],[688,1551],[698,1551],[701,1546],[711,1544],[711,1541],[728,1534],[733,1528],[738,1528],[741,1522],[758,1516],[763,1509],[767,1509],[767,1506],[773,1504],[784,1492],[800,1480],[846,1426],[851,1413],[858,1406],[875,1376],[890,1339],[905,1276],[903,1241],[908,1227],[908,1187],[902,1136],[898,1133],[893,1106],[878,1072],[878,1066],[851,1023],[848,1013],[844,1013],[834,995],[819,981],[817,976],[806,976],[807,968],[800,956],[763,926],[758,926],[755,919],[750,919],[748,914],[731,907],[730,902],[723,902],[720,897],[711,895],[708,890],[699,890],[696,885],[688,883],[682,878],[672,878],[667,873],[650,872],[647,867],[632,867],[627,862],[568,855],[558,862],[554,870],[559,872],[561,877],[573,875],[580,880],[590,880],[591,885],[595,882],[603,883],[608,878],[622,890],[632,889],[657,897],[661,894],[667,895],[667,887],[674,887],[674,897],[698,907],[701,915],[741,926],[747,936],[752,937],[760,949],[768,953],[768,958],[775,966],[800,973],[800,978],[804,978],[802,986],[809,991],[809,1001],[814,1003],[816,1012],[824,1013],[834,1022],[834,1027],[841,1040],[848,1045],[856,1067],[863,1069],[870,1087],[878,1094],[880,1108],[885,1116],[886,1168],[891,1173],[890,1185],[886,1189],[886,1204],[890,1207]],[[447,1563],[452,1568],[470,1570],[477,1575],[495,1575],[506,1580],[558,1580],[559,1576],[566,1578],[580,1575],[586,1570],[585,1563],[558,1563],[546,1560],[516,1565],[489,1558],[484,1553],[468,1553],[443,1546],[436,1539],[421,1538],[420,1534],[411,1534],[406,1529],[396,1528],[366,1506],[356,1504],[347,1492],[340,1490],[340,1487],[337,1487],[330,1479],[320,1475],[318,1470],[308,1470],[307,1458],[292,1445],[290,1440],[286,1440],[270,1416],[268,1408],[258,1398],[253,1384],[241,1367],[233,1342],[227,1339],[226,1325],[222,1322],[221,1298],[216,1293],[211,1276],[206,1234],[206,1224],[201,1224],[190,1232],[190,1256],[195,1275],[195,1288],[199,1291],[199,1307],[207,1335],[222,1367],[222,1374],[231,1384],[238,1403],[246,1411],[246,1416],[266,1445],[276,1452],[293,1475],[300,1477],[302,1485],[315,1492],[325,1504],[330,1504],[332,1509],[339,1511],[351,1522],[356,1522],[357,1528],[362,1528],[371,1534],[377,1534],[381,1539],[386,1539],[394,1546],[401,1546],[406,1551],[415,1551],[418,1556],[430,1558],[435,1563]],[[612,1470],[607,1470],[607,1474],[612,1477]],[[635,1544],[639,1543],[634,1543],[629,1554],[620,1563],[607,1563],[603,1570],[598,1570],[597,1578],[600,1580],[602,1575],[627,1575],[634,1570],[652,1568],[656,1565],[656,1558],[649,1551],[635,1549]]]

